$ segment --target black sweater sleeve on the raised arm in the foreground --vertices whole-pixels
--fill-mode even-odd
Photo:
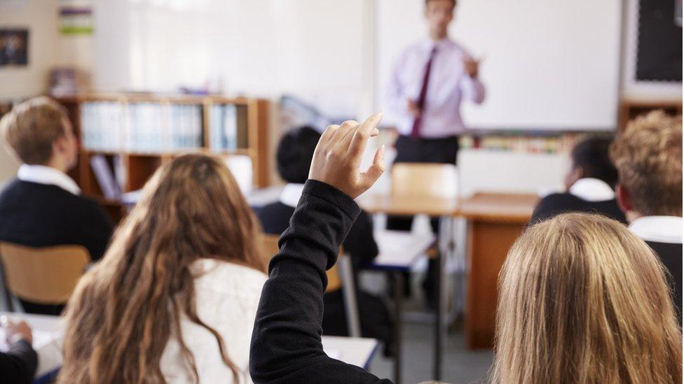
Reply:
[[[306,182],[261,292],[249,352],[254,383],[391,383],[328,357],[321,344],[325,271],[359,212],[336,188]]]

